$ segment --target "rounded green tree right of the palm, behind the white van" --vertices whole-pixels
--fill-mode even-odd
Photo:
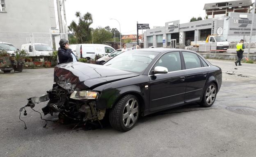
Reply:
[[[93,31],[93,40],[95,44],[112,41],[112,33],[105,28],[98,27]]]

